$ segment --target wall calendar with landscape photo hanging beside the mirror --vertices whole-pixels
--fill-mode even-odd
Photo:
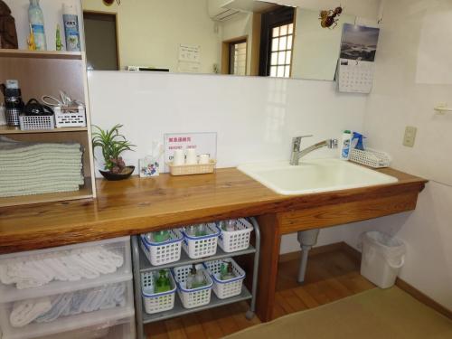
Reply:
[[[370,93],[380,28],[344,24],[336,81],[340,92]]]

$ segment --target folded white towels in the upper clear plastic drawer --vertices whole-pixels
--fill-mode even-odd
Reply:
[[[18,289],[41,287],[52,280],[77,281],[114,273],[122,254],[101,246],[37,254],[0,261],[0,282]]]

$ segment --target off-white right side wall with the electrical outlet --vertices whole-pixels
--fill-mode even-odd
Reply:
[[[405,240],[409,251],[401,278],[452,309],[452,115],[438,117],[433,111],[438,102],[452,104],[451,84],[435,78],[452,71],[442,67],[452,53],[451,35],[445,40],[442,33],[452,30],[450,21],[441,20],[445,14],[452,14],[448,0],[388,1],[384,6],[365,133],[373,146],[391,153],[393,167],[432,182],[420,193],[415,212],[359,223],[359,229],[350,228],[344,236],[353,246],[363,229],[390,231]],[[426,31],[432,23],[441,32]],[[422,39],[434,50],[423,49]],[[417,77],[425,53],[432,71],[428,78],[434,80],[430,84],[419,83]],[[413,148],[401,145],[407,125],[419,128]]]

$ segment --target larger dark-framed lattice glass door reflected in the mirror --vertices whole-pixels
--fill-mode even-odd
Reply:
[[[280,7],[262,14],[259,75],[289,78],[294,44],[293,7]]]

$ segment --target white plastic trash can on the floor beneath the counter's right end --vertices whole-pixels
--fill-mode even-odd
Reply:
[[[363,233],[361,274],[381,288],[394,285],[405,263],[406,247],[402,240],[379,231]]]

